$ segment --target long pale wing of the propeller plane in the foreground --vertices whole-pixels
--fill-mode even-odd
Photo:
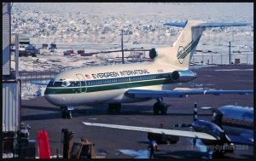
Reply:
[[[88,125],[88,126],[98,126],[98,127],[113,128],[113,129],[128,129],[128,130],[151,132],[151,133],[164,134],[164,135],[177,135],[177,136],[183,136],[183,137],[192,137],[192,138],[207,139],[207,140],[217,140],[215,137],[213,137],[212,135],[208,135],[207,133],[194,132],[194,131],[183,131],[183,130],[176,130],[176,129],[145,128],[145,127],[137,127],[137,126],[117,125],[117,124],[96,124],[96,123],[85,123],[85,122],[83,122],[83,124]]]

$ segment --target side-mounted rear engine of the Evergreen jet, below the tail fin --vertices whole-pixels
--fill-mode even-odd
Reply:
[[[176,82],[186,83],[196,78],[196,73],[190,70],[172,72],[172,79]]]

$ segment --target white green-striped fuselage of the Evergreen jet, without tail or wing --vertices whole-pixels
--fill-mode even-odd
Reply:
[[[146,101],[148,99],[128,97],[125,91],[174,89],[179,83],[172,83],[168,78],[177,69],[172,66],[156,66],[154,62],[72,69],[57,74],[51,80],[54,85],[48,85],[44,96],[57,106]],[[76,84],[68,85],[70,82]]]

